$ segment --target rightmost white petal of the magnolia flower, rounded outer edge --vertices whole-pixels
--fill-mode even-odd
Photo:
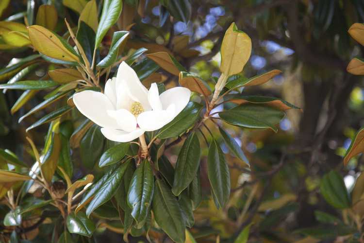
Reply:
[[[175,116],[177,116],[183,108],[188,104],[191,96],[191,91],[184,87],[174,87],[165,90],[160,96],[163,109],[166,109],[168,105],[175,105]]]

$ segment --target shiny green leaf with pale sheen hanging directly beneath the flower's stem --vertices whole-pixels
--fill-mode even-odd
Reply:
[[[128,205],[140,228],[147,219],[154,191],[154,176],[150,162],[143,160],[136,168],[128,191]]]

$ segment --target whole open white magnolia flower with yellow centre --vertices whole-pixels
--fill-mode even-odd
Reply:
[[[187,105],[190,94],[188,88],[174,87],[159,95],[155,83],[148,90],[122,62],[116,78],[106,82],[104,94],[85,90],[74,94],[73,102],[85,117],[102,127],[107,139],[128,142],[172,121]]]

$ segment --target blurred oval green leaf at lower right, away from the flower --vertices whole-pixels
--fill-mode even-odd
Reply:
[[[343,177],[336,171],[331,171],[322,177],[320,191],[334,208],[349,208],[351,205]]]

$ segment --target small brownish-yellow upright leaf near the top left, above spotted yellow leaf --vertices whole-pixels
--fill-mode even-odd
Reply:
[[[35,23],[49,30],[54,30],[57,25],[57,9],[53,5],[43,4],[38,8]]]

